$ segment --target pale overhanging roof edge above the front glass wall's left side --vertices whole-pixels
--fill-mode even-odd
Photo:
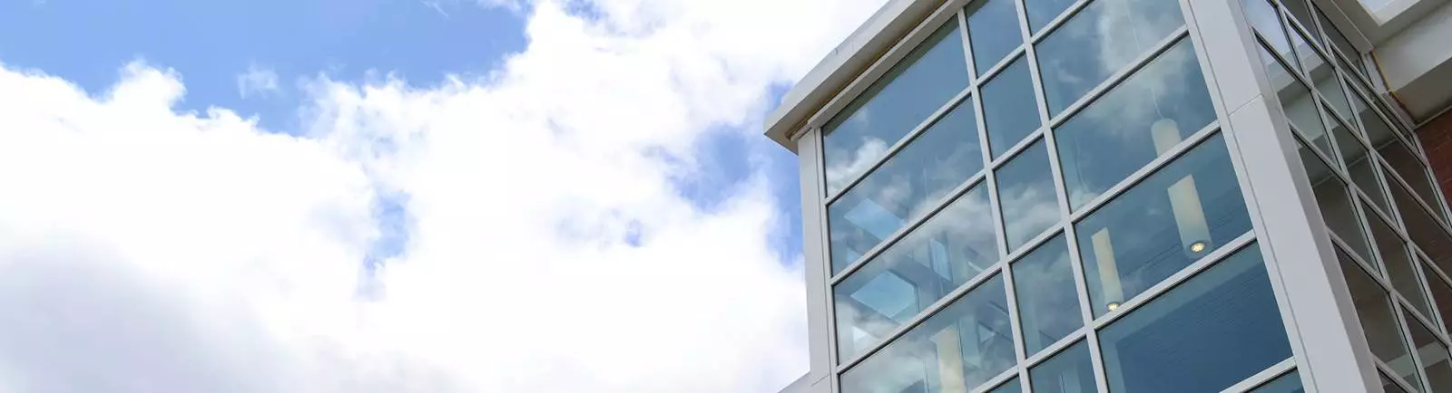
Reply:
[[[767,116],[767,138],[796,152],[797,142],[791,136],[806,125],[807,119],[942,3],[942,0],[889,0],[877,9],[781,96],[781,103]]]

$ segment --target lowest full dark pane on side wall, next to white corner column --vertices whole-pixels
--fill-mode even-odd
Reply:
[[[1350,290],[1352,303],[1356,307],[1356,319],[1362,323],[1371,352],[1394,371],[1401,376],[1413,376],[1411,380],[1416,380],[1416,367],[1411,367],[1407,342],[1403,341],[1401,329],[1397,326],[1391,297],[1387,296],[1381,284],[1376,284],[1376,280],[1366,274],[1366,270],[1361,268],[1340,248],[1336,249],[1336,257],[1342,262],[1342,276],[1346,277],[1346,287]]]

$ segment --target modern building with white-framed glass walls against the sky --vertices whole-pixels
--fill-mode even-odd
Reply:
[[[1446,0],[890,0],[767,123],[786,392],[1452,392],[1449,59]]]

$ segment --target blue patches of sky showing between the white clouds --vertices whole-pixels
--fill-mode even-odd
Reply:
[[[430,87],[446,75],[485,75],[524,49],[523,17],[521,10],[463,0],[16,0],[0,3],[0,62],[99,94],[116,83],[121,65],[139,58],[182,74],[187,93],[179,110],[227,107],[256,116],[267,131],[295,133],[299,80],[393,74]],[[238,75],[250,70],[276,73],[279,90],[241,94]],[[772,88],[771,102],[784,91]],[[759,125],[709,138],[697,152],[709,170],[680,178],[678,187],[711,207],[746,178],[751,151],[767,152],[768,180],[787,218],[772,236],[775,247],[799,255],[796,157],[761,136]],[[379,209],[385,219],[404,222],[396,202],[385,199]],[[407,233],[391,231],[385,239],[373,258],[396,254]]]

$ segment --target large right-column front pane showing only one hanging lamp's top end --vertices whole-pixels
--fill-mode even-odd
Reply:
[[[1215,120],[1195,46],[1180,41],[1054,131],[1076,210]]]

